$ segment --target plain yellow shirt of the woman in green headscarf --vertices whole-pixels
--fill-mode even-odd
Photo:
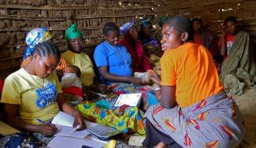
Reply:
[[[64,58],[67,65],[76,65],[80,68],[80,80],[82,81],[83,86],[88,87],[93,83],[95,71],[93,69],[91,59],[87,54],[76,54],[67,50],[61,56]]]

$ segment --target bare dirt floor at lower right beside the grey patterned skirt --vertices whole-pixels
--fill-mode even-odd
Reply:
[[[246,124],[246,133],[239,147],[256,148],[256,87],[241,96],[233,96]]]

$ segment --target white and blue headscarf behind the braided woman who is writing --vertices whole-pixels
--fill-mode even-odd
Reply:
[[[50,31],[47,31],[46,28],[34,28],[29,31],[25,39],[28,46],[23,58],[25,59],[32,55],[35,45],[44,43],[52,38],[53,35],[51,35]]]

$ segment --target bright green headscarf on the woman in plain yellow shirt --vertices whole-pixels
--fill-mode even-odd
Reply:
[[[76,24],[71,24],[67,30],[65,30],[65,39],[70,41],[75,38],[82,38],[83,34],[80,30],[76,29]]]

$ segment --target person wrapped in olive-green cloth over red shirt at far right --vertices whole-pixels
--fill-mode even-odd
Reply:
[[[239,30],[236,17],[230,16],[224,20],[219,48],[224,57],[220,78],[227,94],[240,95],[246,89],[255,87],[255,54],[250,46],[250,35],[247,31]]]

